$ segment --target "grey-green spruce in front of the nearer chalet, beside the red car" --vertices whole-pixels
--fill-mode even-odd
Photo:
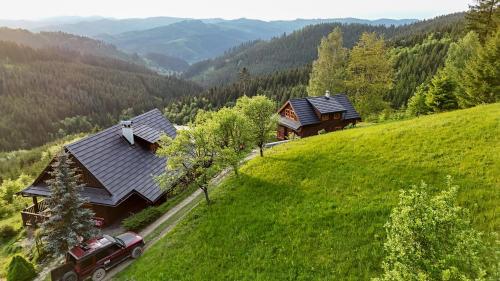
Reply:
[[[53,256],[64,254],[82,240],[98,234],[92,219],[94,213],[84,207],[87,201],[80,195],[82,185],[78,184],[79,175],[72,165],[69,154],[60,152],[47,181],[51,216],[42,224],[42,232],[47,250]]]

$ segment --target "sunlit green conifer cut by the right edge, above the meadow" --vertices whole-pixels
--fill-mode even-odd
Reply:
[[[463,87],[466,106],[500,101],[500,28],[468,60]]]

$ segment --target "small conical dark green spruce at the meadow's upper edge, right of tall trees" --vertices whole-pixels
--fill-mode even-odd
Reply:
[[[456,109],[455,88],[455,82],[444,71],[438,71],[429,84],[425,104],[434,112]]]

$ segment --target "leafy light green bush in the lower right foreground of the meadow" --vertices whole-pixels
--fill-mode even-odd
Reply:
[[[375,280],[484,280],[484,243],[457,204],[458,187],[448,177],[445,190],[430,191],[424,182],[401,191],[385,225],[384,273]]]

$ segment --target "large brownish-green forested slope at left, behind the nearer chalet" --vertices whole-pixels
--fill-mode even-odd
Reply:
[[[0,151],[106,127],[198,92],[121,60],[0,42]]]

